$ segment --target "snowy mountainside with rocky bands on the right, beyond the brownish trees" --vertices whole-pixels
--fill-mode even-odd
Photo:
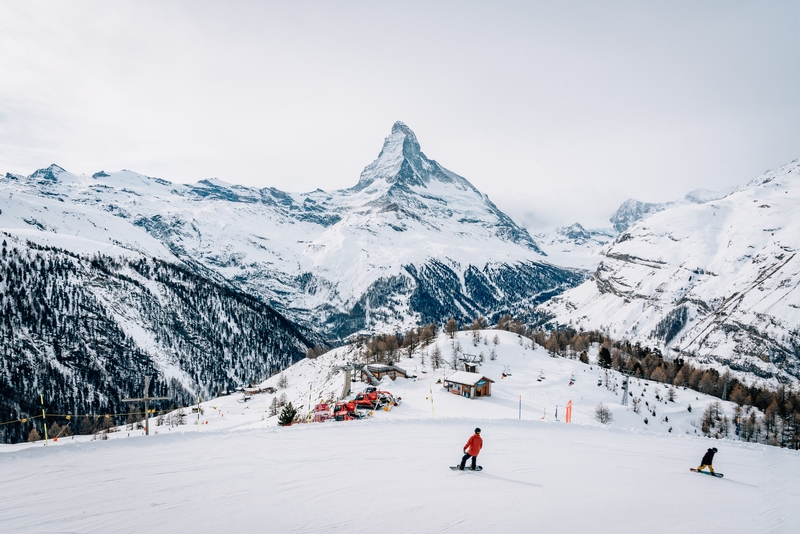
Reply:
[[[664,347],[751,378],[800,378],[800,162],[622,233],[559,323]]]

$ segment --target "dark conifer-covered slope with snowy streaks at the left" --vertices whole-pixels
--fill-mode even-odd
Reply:
[[[150,395],[189,405],[198,393],[262,380],[310,346],[269,306],[188,268],[9,235],[0,247],[0,310],[0,422],[40,415],[40,394],[47,413],[139,411],[122,399],[142,395],[145,375]],[[2,425],[0,439],[26,439],[32,425],[43,435],[40,421]]]

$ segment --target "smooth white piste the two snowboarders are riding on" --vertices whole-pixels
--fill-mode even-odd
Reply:
[[[474,424],[484,471],[450,471]],[[725,444],[714,479],[688,470],[706,444],[384,419],[37,447],[0,456],[0,521],[7,532],[797,532],[796,453]]]

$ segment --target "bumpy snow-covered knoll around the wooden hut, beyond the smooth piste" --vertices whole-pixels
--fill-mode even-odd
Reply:
[[[470,417],[514,419],[520,416],[521,396],[522,419],[526,420],[539,421],[544,418],[545,421],[554,421],[558,408],[559,420],[563,421],[564,407],[572,400],[572,421],[575,424],[603,426],[595,419],[595,409],[602,402],[612,413],[614,427],[637,432],[696,436],[702,435],[698,421],[705,408],[711,403],[719,402],[716,397],[684,388],[673,388],[674,400],[669,401],[669,387],[634,378],[629,386],[629,402],[624,406],[623,376],[616,371],[601,369],[593,361],[585,364],[577,359],[553,358],[530,339],[511,332],[483,330],[479,331],[479,335],[477,345],[474,332],[462,331],[453,340],[445,334],[439,335],[434,343],[417,349],[412,357],[407,357],[406,351],[398,353],[399,359],[395,365],[407,369],[410,375],[417,378],[398,378],[396,381],[384,378],[380,389],[391,391],[403,401],[389,413],[376,412],[375,417],[391,420],[426,418],[432,416],[432,411],[435,417],[464,417],[464,410],[468,410]],[[453,373],[454,345],[459,358],[463,358],[465,354],[478,358],[483,356],[479,373],[495,381],[491,397],[470,403],[468,399],[443,389],[441,381]],[[437,348],[441,352],[443,367],[433,369],[431,355]],[[592,360],[596,357],[596,352],[596,348],[591,352]],[[492,353],[496,358],[494,360]],[[300,411],[305,414],[309,405],[309,390],[312,393],[312,404],[341,396],[344,385],[341,367],[357,360],[357,357],[357,347],[349,345],[334,349],[316,359],[306,358],[282,373],[288,381],[286,389],[279,389],[274,394],[255,395],[250,402],[239,402],[241,395],[236,394],[216,399],[212,404],[223,412],[226,409],[231,410],[232,414],[241,412],[244,404],[246,409],[255,408],[262,414],[273,396],[286,395],[286,399],[296,407],[302,407]],[[279,375],[273,376],[261,385],[278,388],[280,378]],[[353,391],[358,392],[367,385],[365,382],[354,383]],[[429,400],[431,391],[434,396],[433,407]],[[639,413],[634,410],[634,397],[640,399]],[[731,420],[734,404],[724,402],[722,405]],[[233,417],[223,422],[218,416],[219,414],[206,418],[209,425],[222,425],[232,429],[242,423],[254,427],[277,424],[276,417],[261,421],[251,415],[240,423]],[[729,429],[729,432],[733,436],[734,431]]]

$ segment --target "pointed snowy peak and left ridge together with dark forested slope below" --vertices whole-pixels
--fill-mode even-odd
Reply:
[[[0,419],[191,402],[315,344],[531,316],[581,283],[396,123],[358,183],[286,193],[58,165],[0,178]],[[15,436],[20,439],[22,436]]]

